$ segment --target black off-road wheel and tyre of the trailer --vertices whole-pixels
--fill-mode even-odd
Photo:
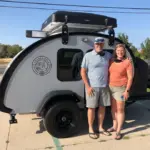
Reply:
[[[63,101],[54,104],[44,117],[48,133],[57,138],[66,138],[79,129],[80,110],[75,102]]]

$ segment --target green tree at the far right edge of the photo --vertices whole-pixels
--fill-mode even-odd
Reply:
[[[143,59],[150,59],[150,38],[147,38],[142,44],[142,56]]]

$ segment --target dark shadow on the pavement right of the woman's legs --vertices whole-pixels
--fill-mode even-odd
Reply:
[[[144,131],[150,128],[150,101],[138,101],[126,110],[123,129],[132,128],[124,134]],[[128,122],[128,123],[127,123]]]

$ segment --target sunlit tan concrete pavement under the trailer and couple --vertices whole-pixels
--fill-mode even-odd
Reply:
[[[86,112],[83,113],[79,134],[66,139],[49,135],[42,120],[34,114],[17,115],[16,118],[18,124],[9,125],[9,115],[0,113],[0,150],[150,150],[150,101],[135,103],[127,109],[122,130],[124,138],[120,141],[103,135],[97,140],[90,139]],[[111,116],[107,114],[105,127],[110,127],[111,123]]]

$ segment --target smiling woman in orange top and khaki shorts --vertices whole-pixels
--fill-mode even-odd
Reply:
[[[132,64],[126,56],[125,46],[118,44],[114,50],[114,56],[109,67],[109,87],[112,96],[113,127],[109,132],[116,131],[115,139],[121,139],[121,128],[124,122],[125,101],[129,97],[132,85]]]

